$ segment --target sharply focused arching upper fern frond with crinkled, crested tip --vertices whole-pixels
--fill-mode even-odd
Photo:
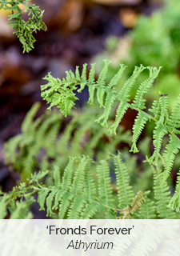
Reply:
[[[96,120],[96,122],[99,122],[102,126],[107,126],[107,121],[114,102],[119,102],[118,109],[116,110],[115,122],[109,128],[111,134],[116,134],[116,129],[128,108],[137,110],[138,114],[134,121],[132,146],[130,150],[134,153],[138,152],[137,141],[144,129],[144,126],[146,125],[146,122],[153,120],[155,122],[154,154],[149,159],[149,162],[158,168],[158,162],[159,160],[162,160],[164,171],[158,175],[162,177],[163,186],[170,175],[175,155],[178,154],[180,149],[180,139],[177,135],[180,134],[180,131],[178,130],[178,128],[180,128],[180,114],[178,111],[180,102],[174,103],[172,113],[169,114],[167,95],[159,92],[159,99],[152,103],[152,107],[148,112],[148,110],[146,110],[146,99],[144,98],[144,94],[147,94],[150,90],[150,86],[152,86],[154,79],[158,77],[161,67],[159,69],[149,66],[135,67],[134,73],[118,92],[115,90],[114,86],[119,82],[126,66],[121,65],[118,73],[114,75],[114,78],[112,78],[110,83],[106,85],[106,73],[109,64],[110,61],[105,60],[105,66],[102,69],[101,74],[99,74],[97,82],[94,81],[94,64],[91,66],[89,78],[86,78],[86,64],[83,66],[81,76],[77,67],[75,74],[71,70],[66,72],[66,78],[63,78],[62,81],[60,79],[53,78],[49,73],[45,77],[48,83],[42,86],[42,98],[50,103],[49,109],[52,106],[58,106],[62,111],[62,114],[66,116],[74,106],[74,101],[77,99],[75,96],[75,90],[81,92],[85,86],[88,86],[90,94],[89,103],[94,103],[94,94],[96,92],[98,104],[104,110],[103,114]],[[133,102],[130,102],[130,90],[138,76],[145,69],[150,71],[149,78],[147,78],[145,82],[142,82],[137,90]],[[79,89],[78,85],[80,86]],[[160,154],[162,138],[165,134],[169,134],[170,140],[166,144],[165,152]],[[171,202],[174,202],[174,208],[178,209],[177,198],[173,198]]]

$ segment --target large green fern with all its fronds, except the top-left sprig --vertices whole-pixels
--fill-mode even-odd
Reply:
[[[48,117],[43,115],[33,121],[39,107],[38,104],[30,110],[22,124],[22,134],[10,139],[10,142],[6,144],[6,161],[13,163],[16,168],[23,166],[22,169],[25,174],[25,182],[22,182],[20,186],[15,187],[10,192],[7,207],[10,207],[11,201],[14,202],[17,198],[28,198],[38,192],[38,203],[41,210],[45,210],[44,205],[46,204],[47,215],[51,216],[54,213],[55,218],[57,216],[59,218],[99,218],[99,216],[101,218],[178,218],[180,205],[179,178],[172,198],[168,182],[170,170],[180,146],[178,138],[180,127],[178,108],[180,103],[175,102],[172,113],[169,114],[167,95],[159,93],[159,99],[153,102],[150,109],[146,108],[144,94],[147,94],[150,90],[150,86],[152,86],[154,79],[158,77],[161,68],[135,67],[134,73],[118,92],[115,88],[120,78],[122,78],[126,66],[121,65],[118,74],[106,85],[106,73],[109,64],[110,61],[106,60],[97,81],[94,79],[94,64],[91,66],[89,78],[86,78],[86,65],[83,66],[81,75],[77,67],[75,74],[72,71],[67,71],[66,78],[62,80],[55,79],[50,74],[46,76],[48,83],[42,86],[42,97],[50,103],[49,109],[52,106],[58,106],[65,116],[71,111],[72,123],[66,127],[67,130],[64,130],[64,134],[67,134],[66,136],[62,134],[63,139],[61,140],[61,137],[58,138],[56,135],[62,118],[61,114],[54,112],[51,115],[48,112]],[[149,78],[142,82],[134,100],[131,100],[130,90],[138,76],[146,69],[150,72]],[[88,86],[90,94],[89,103],[91,105],[98,104],[103,110],[100,117],[96,113],[91,118],[96,119],[98,126],[102,125],[105,130],[106,126],[110,126],[111,134],[117,133],[119,123],[128,108],[137,111],[133,126],[131,152],[138,152],[138,138],[144,130],[146,122],[154,122],[154,153],[150,157],[146,157],[146,162],[149,163],[152,170],[147,169],[144,174],[147,175],[146,177],[154,174],[154,185],[150,190],[144,186],[143,190],[136,190],[136,194],[134,194],[134,186],[130,186],[130,171],[126,167],[128,162],[124,161],[124,153],[122,152],[122,155],[109,154],[108,152],[112,152],[111,143],[108,150],[102,150],[106,154],[103,157],[100,154],[100,157],[96,158],[92,150],[101,136],[98,135],[98,138],[94,136],[92,141],[90,140],[90,147],[87,142],[85,147],[82,146],[82,150],[79,150],[83,130],[86,130],[87,126],[94,126],[90,115],[87,114],[87,109],[82,119],[79,118],[79,115],[73,115],[74,112],[71,110],[75,104],[74,101],[77,99],[76,90],[81,92],[85,86]],[[95,97],[96,95],[97,97]],[[94,98],[97,98],[98,103]],[[113,121],[113,115],[110,115],[110,112],[114,112],[114,109],[116,109],[116,115]],[[97,112],[97,108],[95,111]],[[84,126],[82,126],[82,123]],[[74,124],[78,124],[78,126],[77,130],[72,132],[74,129],[72,127],[75,127]],[[73,134],[77,134],[77,136],[70,138]],[[120,135],[122,136],[122,134]],[[169,136],[167,142],[166,139],[163,139],[165,135]],[[116,136],[118,137],[118,135]],[[121,141],[121,136],[119,141]],[[112,145],[115,144],[112,143]],[[45,172],[32,174],[35,166],[33,161],[35,156],[39,154],[41,147],[44,149],[49,147],[46,154],[44,154],[46,164],[42,170]],[[87,150],[88,148],[89,150]],[[76,152],[76,149],[79,151]],[[52,154],[52,152],[55,153]],[[63,154],[63,152],[65,153]],[[62,158],[59,154],[62,154]],[[65,155],[67,157],[68,154],[74,154],[70,155],[69,162],[65,158]],[[83,157],[82,154],[84,154]],[[53,159],[51,158],[51,164],[49,164],[49,157],[53,157]],[[23,158],[26,162],[25,165],[21,164]],[[91,160],[91,158],[94,158],[94,160]],[[78,161],[78,159],[80,160]],[[26,180],[28,178],[26,171],[29,170],[28,162],[31,170],[27,172],[29,179]],[[35,162],[38,161],[35,160]],[[52,167],[53,164],[55,164],[54,168]],[[50,171],[46,171],[47,168],[50,168]],[[37,167],[38,170],[39,166]],[[116,184],[111,182],[110,170],[114,170]],[[38,179],[45,176],[43,183],[40,183]],[[142,175],[139,178],[139,184],[142,184],[143,177]],[[50,182],[47,182],[48,179]],[[6,194],[3,197],[5,196]]]

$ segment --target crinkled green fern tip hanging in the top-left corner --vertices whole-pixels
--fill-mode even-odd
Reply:
[[[12,14],[9,15],[8,24],[14,29],[15,34],[19,41],[22,43],[23,53],[29,52],[34,48],[34,42],[36,41],[33,32],[37,30],[47,30],[46,24],[42,22],[42,15],[44,10],[41,10],[39,6],[35,4],[29,4],[28,0],[1,0],[0,9],[10,10]],[[29,11],[30,18],[28,21],[22,19],[22,6],[25,6],[25,12]]]

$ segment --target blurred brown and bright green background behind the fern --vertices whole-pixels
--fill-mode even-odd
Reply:
[[[48,72],[63,78],[66,70],[83,63],[112,61],[108,78],[126,63],[130,76],[134,66],[163,66],[157,85],[148,95],[159,91],[170,95],[171,104],[179,94],[180,75],[180,1],[179,0],[36,0],[45,10],[48,30],[34,34],[34,50],[22,54],[22,45],[12,34],[8,12],[0,10],[0,184],[9,191],[18,178],[4,165],[3,144],[21,133],[26,112],[34,102],[42,102],[40,86]],[[27,14],[22,14],[26,19]],[[146,74],[145,74],[146,75]],[[144,77],[142,76],[142,81]],[[78,107],[86,101],[81,94]],[[42,102],[39,115],[46,110]],[[126,129],[132,125],[127,121]],[[148,132],[147,132],[148,134]]]

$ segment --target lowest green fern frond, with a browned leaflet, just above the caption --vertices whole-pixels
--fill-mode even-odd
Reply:
[[[52,216],[58,210],[58,218],[93,218],[98,212],[105,214],[106,218],[176,218],[174,211],[167,207],[169,202],[168,186],[161,186],[161,179],[154,171],[155,201],[148,198],[150,191],[138,191],[134,195],[129,185],[130,178],[120,154],[112,155],[117,178],[118,194],[110,182],[110,166],[106,160],[97,164],[96,175],[90,170],[92,160],[83,156],[70,158],[63,174],[58,166],[54,167],[54,185],[44,186],[39,180],[46,176],[46,172],[32,174],[26,182],[15,186],[8,195],[9,204],[15,198],[30,198],[38,192],[40,210],[45,210],[47,216]],[[74,168],[74,163],[78,167]],[[117,198],[118,196],[118,198]],[[4,196],[6,198],[6,195]],[[116,199],[114,202],[114,199]],[[2,198],[2,202],[3,202]],[[118,203],[117,203],[118,201]],[[156,205],[154,204],[156,202]],[[103,216],[103,215],[102,215]]]

